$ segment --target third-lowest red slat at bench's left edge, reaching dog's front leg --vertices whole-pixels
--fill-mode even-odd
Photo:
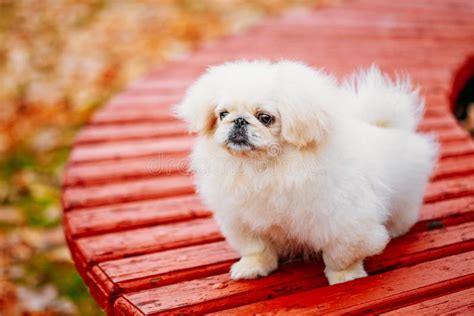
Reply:
[[[83,264],[222,240],[212,219],[195,219],[76,239]]]

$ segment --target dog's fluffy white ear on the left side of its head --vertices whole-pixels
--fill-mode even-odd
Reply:
[[[186,92],[184,99],[175,106],[176,115],[188,123],[190,132],[210,133],[215,124],[215,87],[212,74],[202,75]]]

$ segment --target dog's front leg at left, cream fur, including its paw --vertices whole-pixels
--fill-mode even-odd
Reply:
[[[269,242],[243,225],[232,223],[225,226],[222,228],[227,241],[241,256],[230,269],[232,279],[255,279],[276,270],[278,254]]]

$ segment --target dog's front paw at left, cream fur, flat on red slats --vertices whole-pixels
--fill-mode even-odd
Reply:
[[[263,254],[245,256],[232,265],[230,277],[234,280],[255,279],[269,275],[278,267],[278,260]]]

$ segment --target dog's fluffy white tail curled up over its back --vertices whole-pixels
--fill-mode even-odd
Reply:
[[[423,115],[424,99],[407,77],[392,81],[372,66],[352,75],[345,87],[350,111],[369,124],[414,131]]]

